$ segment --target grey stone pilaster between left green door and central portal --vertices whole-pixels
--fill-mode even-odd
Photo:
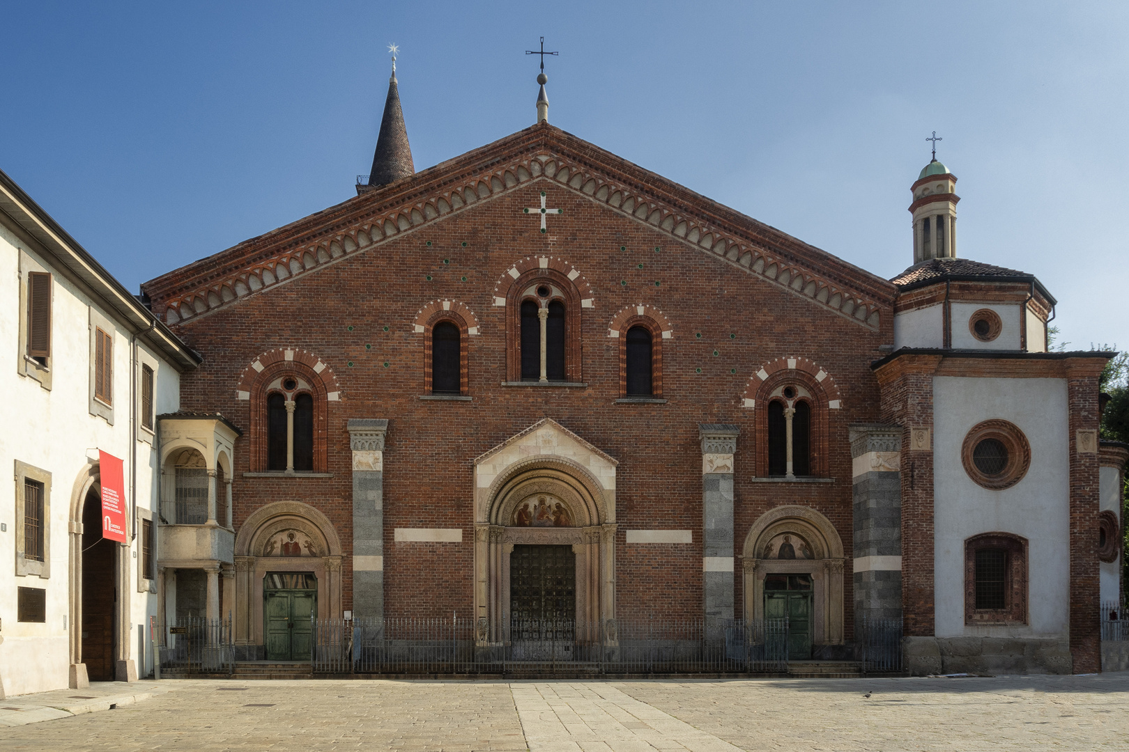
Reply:
[[[384,616],[384,437],[383,418],[350,418],[353,474],[353,617]]]

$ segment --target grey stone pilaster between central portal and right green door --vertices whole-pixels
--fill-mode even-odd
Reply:
[[[741,430],[702,423],[702,605],[707,619],[733,618],[733,455]]]

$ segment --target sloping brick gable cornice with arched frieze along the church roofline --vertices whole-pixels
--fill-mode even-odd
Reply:
[[[142,285],[176,324],[548,179],[683,246],[877,329],[896,287],[835,256],[542,123]]]

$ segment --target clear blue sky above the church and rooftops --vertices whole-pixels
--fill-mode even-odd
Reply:
[[[3,2],[0,168],[131,290],[353,192],[397,74],[417,169],[550,121],[884,277],[925,138],[959,253],[1129,346],[1129,3]]]

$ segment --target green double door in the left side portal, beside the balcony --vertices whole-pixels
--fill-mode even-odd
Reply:
[[[268,661],[309,661],[317,613],[317,578],[308,573],[269,573],[263,583]]]

